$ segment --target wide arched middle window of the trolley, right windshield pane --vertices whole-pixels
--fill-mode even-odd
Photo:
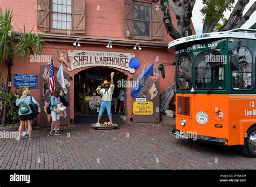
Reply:
[[[223,89],[225,61],[218,51],[199,53],[194,64],[196,89]]]

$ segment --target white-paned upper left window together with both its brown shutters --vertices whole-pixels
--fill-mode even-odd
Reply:
[[[37,0],[37,29],[85,33],[85,0]]]

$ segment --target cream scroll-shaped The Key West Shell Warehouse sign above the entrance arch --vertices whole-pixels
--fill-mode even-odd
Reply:
[[[135,70],[129,67],[129,61],[134,56],[132,53],[69,50],[68,56],[63,62],[65,62],[69,71],[82,67],[105,66],[134,73]]]

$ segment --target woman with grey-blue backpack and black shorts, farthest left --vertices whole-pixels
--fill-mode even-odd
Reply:
[[[24,130],[25,121],[28,123],[28,131],[29,131],[29,140],[33,140],[34,138],[31,136],[32,134],[32,119],[33,114],[32,110],[30,109],[30,103],[33,102],[37,106],[39,106],[39,103],[35,100],[34,97],[30,96],[30,90],[25,89],[22,93],[22,96],[20,98],[16,99],[16,106],[19,106],[19,120],[21,121],[21,124],[19,125],[19,133],[17,140],[21,140],[21,133]]]

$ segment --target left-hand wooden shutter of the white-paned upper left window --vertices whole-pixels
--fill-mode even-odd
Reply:
[[[37,30],[50,31],[50,0],[37,0]]]

